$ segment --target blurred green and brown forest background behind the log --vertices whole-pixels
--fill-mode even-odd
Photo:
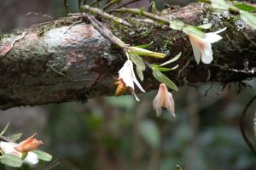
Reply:
[[[69,1],[77,8],[77,1]],[[166,1],[169,4],[189,1]],[[160,8],[162,1],[157,1]],[[1,0],[0,28],[11,32],[48,19],[28,12],[65,16],[61,0]],[[255,157],[241,138],[240,116],[256,94],[256,81],[247,88],[232,84],[195,84],[173,94],[177,117],[166,111],[156,117],[152,100],[156,91],[131,96],[102,97],[86,103],[66,103],[0,111],[0,127],[8,133],[38,133],[41,150],[60,162],[53,169],[80,170],[255,170]],[[206,95],[207,94],[207,95]],[[247,134],[253,139],[254,105],[248,110]],[[55,164],[53,162],[52,164]],[[51,165],[52,165],[51,164]],[[49,169],[45,164],[38,169]]]

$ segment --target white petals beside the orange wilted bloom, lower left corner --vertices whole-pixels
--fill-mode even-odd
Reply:
[[[0,142],[0,150],[3,151],[4,154],[11,154],[14,156],[22,157],[22,153],[15,149],[16,146],[19,144],[13,142]],[[32,151],[27,152],[27,156],[24,159],[24,163],[29,165],[36,165],[38,163],[38,156],[37,154],[33,153]]]

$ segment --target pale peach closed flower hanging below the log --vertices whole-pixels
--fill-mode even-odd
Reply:
[[[168,92],[165,83],[160,84],[158,94],[153,100],[153,109],[156,111],[157,116],[161,115],[162,107],[166,108],[167,111],[175,117],[174,100],[172,94]]]

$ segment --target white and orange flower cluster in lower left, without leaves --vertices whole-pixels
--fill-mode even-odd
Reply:
[[[11,154],[23,158],[23,154],[27,154],[24,158],[24,162],[30,165],[35,165],[38,163],[37,154],[33,153],[32,150],[36,150],[39,145],[43,144],[41,140],[34,139],[32,135],[26,140],[23,140],[19,144],[14,142],[0,142],[0,150],[3,154]]]

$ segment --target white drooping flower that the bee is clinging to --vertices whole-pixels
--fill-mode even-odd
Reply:
[[[135,76],[133,71],[132,61],[129,59],[125,62],[125,65],[119,70],[119,82],[124,83],[123,86],[125,88],[129,87],[131,89],[131,94],[135,97],[135,99],[137,99],[137,101],[139,101],[139,99],[134,92],[134,82],[142,92],[145,92],[141,84],[137,81],[137,77]]]

